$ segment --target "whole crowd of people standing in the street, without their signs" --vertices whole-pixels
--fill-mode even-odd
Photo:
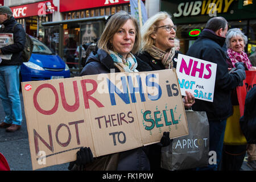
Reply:
[[[0,48],[0,54],[12,53],[11,60],[0,60],[0,98],[5,110],[5,120],[0,128],[8,132],[19,130],[22,114],[19,98],[20,55],[24,48],[25,32],[17,26],[9,7],[0,7],[1,33],[13,33],[14,44]],[[175,69],[179,53],[179,40],[176,39],[176,26],[171,15],[159,12],[151,16],[139,27],[133,16],[119,11],[109,16],[104,32],[97,42],[97,49],[86,58],[80,76],[115,72],[142,72]],[[254,143],[232,146],[224,145],[225,127],[234,109],[239,106],[236,88],[243,85],[245,71],[256,71],[255,57],[250,58],[244,51],[247,37],[238,28],[228,30],[226,19],[216,16],[210,18],[195,43],[186,55],[217,64],[214,100],[208,102],[195,99],[191,92],[185,92],[185,109],[205,111],[209,122],[209,151],[215,151],[217,163],[199,166],[191,170],[239,170],[243,158],[249,156],[248,165],[256,169],[256,147]],[[255,100],[255,87],[250,90]],[[254,106],[251,106],[255,108]],[[255,109],[254,109],[255,110]],[[245,119],[256,122],[254,112],[244,115]],[[164,132],[159,143],[94,158],[90,147],[77,151],[77,160],[69,163],[69,170],[117,170],[148,171],[161,168],[161,150],[172,140],[170,133]],[[225,150],[228,148],[228,153]],[[237,151],[242,153],[237,155]],[[238,152],[239,153],[239,152]],[[222,156],[233,156],[222,160]],[[163,161],[162,161],[163,162]],[[221,163],[221,166],[220,166]]]

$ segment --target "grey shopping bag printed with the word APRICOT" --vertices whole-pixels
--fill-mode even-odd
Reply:
[[[205,111],[186,110],[189,134],[162,147],[161,167],[170,171],[208,166],[209,122]],[[170,131],[171,132],[171,131]]]

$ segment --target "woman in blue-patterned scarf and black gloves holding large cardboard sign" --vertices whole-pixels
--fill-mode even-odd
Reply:
[[[141,45],[141,33],[137,20],[124,11],[112,15],[98,41],[98,51],[90,53],[80,75],[100,73],[151,71],[151,67],[134,56]],[[170,144],[169,133],[164,133],[160,144]],[[69,169],[82,167],[86,170],[150,170],[150,164],[143,147],[115,154],[100,156],[93,162],[90,148],[81,148],[77,152],[76,162]],[[74,165],[74,163],[76,165]]]

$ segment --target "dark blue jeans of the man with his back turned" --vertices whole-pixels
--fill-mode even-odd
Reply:
[[[216,152],[217,164],[208,164],[208,167],[197,168],[197,171],[217,171],[222,157],[224,134],[226,129],[226,119],[209,121],[209,151]],[[212,157],[212,156],[209,156]]]

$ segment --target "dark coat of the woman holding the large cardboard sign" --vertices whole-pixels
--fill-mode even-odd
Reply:
[[[141,59],[135,56],[138,67],[138,71],[151,71],[152,69]],[[97,52],[90,53],[86,60],[85,67],[82,69],[80,76],[84,75],[96,75],[100,73],[110,73],[110,69],[115,69],[115,72],[120,72],[117,67],[114,66],[112,57],[102,49],[98,49]],[[144,147],[135,148],[133,150],[119,152],[118,165],[116,170],[121,171],[148,171],[150,170],[150,163],[144,152]],[[112,154],[110,154],[112,155]],[[104,157],[104,156],[103,156]]]

